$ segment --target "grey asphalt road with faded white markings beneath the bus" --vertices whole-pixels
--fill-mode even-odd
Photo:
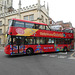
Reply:
[[[75,75],[74,52],[9,56],[0,51],[0,75]]]

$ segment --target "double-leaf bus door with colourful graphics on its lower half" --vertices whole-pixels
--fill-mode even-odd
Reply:
[[[12,45],[12,53],[13,54],[21,54],[24,53],[24,37],[13,37],[13,45]]]

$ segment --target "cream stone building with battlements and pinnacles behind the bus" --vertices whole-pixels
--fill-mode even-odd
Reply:
[[[21,8],[21,0],[19,0],[19,9],[14,10],[12,7],[13,0],[0,0],[0,45],[5,45],[5,34],[8,29],[11,18],[24,19],[40,23],[49,24],[49,7],[40,4],[40,0],[35,5]],[[10,9],[10,11],[9,11]]]

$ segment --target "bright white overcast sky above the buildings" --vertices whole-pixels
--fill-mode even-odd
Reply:
[[[41,5],[49,5],[49,16],[56,21],[71,22],[75,28],[75,1],[74,0],[40,0]],[[38,0],[21,0],[22,7],[36,4]],[[19,0],[13,0],[13,7],[18,9]]]

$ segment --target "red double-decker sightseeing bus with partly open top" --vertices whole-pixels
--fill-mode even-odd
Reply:
[[[13,55],[70,51],[74,49],[73,37],[72,31],[51,31],[44,23],[12,19],[4,52]]]

